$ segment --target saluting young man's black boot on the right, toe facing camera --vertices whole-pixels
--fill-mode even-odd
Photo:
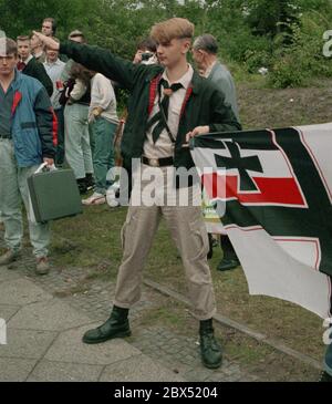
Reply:
[[[215,339],[212,319],[199,322],[200,355],[203,364],[208,369],[221,366],[222,352]]]

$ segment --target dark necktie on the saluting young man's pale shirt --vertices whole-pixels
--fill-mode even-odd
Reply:
[[[168,82],[164,79],[160,80],[159,90],[160,90],[162,85],[164,87],[164,97],[163,97],[163,101],[159,102],[159,111],[147,123],[147,130],[149,130],[157,122],[157,125],[154,127],[153,133],[152,133],[154,143],[157,142],[157,139],[160,136],[160,133],[164,130],[167,130],[166,123],[168,120],[169,97],[172,96],[172,94],[175,91],[183,87],[183,85],[180,83],[174,83],[169,86]],[[162,92],[159,91],[159,96],[160,96],[160,93]],[[163,114],[162,108],[164,111],[164,114]]]

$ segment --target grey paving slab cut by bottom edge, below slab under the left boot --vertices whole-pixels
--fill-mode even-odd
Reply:
[[[97,382],[104,366],[42,360],[27,382]]]

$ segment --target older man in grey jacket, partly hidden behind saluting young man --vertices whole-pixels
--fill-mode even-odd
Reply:
[[[240,122],[236,86],[228,69],[218,61],[218,43],[215,37],[206,33],[196,38],[193,44],[193,58],[200,75],[210,80],[216,87],[222,91],[225,102],[230,104],[237,120]],[[211,244],[210,235],[209,240]],[[217,269],[226,271],[238,267],[240,265],[239,259],[227,236],[220,236],[220,245],[224,250],[224,257],[218,263]],[[211,247],[210,251],[212,251]]]

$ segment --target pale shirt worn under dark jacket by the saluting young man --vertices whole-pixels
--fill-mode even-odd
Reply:
[[[179,80],[176,81],[176,83],[180,83],[183,85],[183,87],[177,90],[176,92],[174,92],[169,97],[167,124],[168,124],[169,131],[175,139],[176,139],[177,133],[178,133],[178,124],[179,124],[179,120],[180,120],[181,107],[183,107],[183,104],[185,101],[187,90],[191,83],[193,74],[194,74],[194,69],[191,68],[190,64],[188,64],[188,71]],[[166,80],[168,82],[168,84],[170,84],[166,72],[164,72],[163,79]],[[175,84],[175,83],[172,83],[172,84]],[[163,91],[162,91],[162,101],[163,101],[163,97],[164,97],[164,95],[163,95]],[[158,101],[159,101],[159,94],[157,93],[155,101],[154,101],[154,107],[151,113],[149,120],[156,113],[159,112]],[[154,143],[152,133],[156,125],[157,125],[157,123],[147,131],[147,134],[146,134],[147,138],[144,143],[144,155],[148,158],[163,158],[163,157],[174,156],[174,144],[172,143],[166,130],[164,130],[160,133],[159,138],[157,139],[156,143]]]

